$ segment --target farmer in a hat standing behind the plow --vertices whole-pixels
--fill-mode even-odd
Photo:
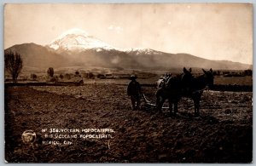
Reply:
[[[131,75],[131,82],[127,87],[127,94],[131,97],[132,110],[139,110],[141,104],[142,89],[140,83],[137,82],[137,77]]]

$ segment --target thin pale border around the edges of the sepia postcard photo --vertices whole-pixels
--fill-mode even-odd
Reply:
[[[1,50],[1,55],[0,55],[0,153],[1,153],[1,162],[0,162],[0,166],[6,164],[4,161],[4,60],[3,60],[3,6],[4,3],[253,3],[253,41],[255,38],[255,33],[254,33],[254,27],[255,26],[255,22],[256,22],[256,17],[255,17],[255,4],[256,1],[253,0],[215,0],[215,1],[211,1],[211,0],[1,0],[0,1],[0,29],[2,31],[0,31],[0,50]],[[253,64],[256,62],[255,60],[255,43],[253,42]],[[253,78],[256,77],[256,73],[255,73],[255,69],[256,67],[253,65]],[[255,94],[255,81],[253,79],[253,96]],[[255,99],[253,97],[253,103],[255,103]],[[254,123],[254,117],[255,117],[255,108],[253,106],[253,165],[256,165],[255,163],[255,123]],[[15,165],[17,163],[8,163],[10,166],[11,165]],[[25,166],[29,163],[20,163],[19,165]],[[59,165],[60,163],[47,163],[47,165]],[[73,163],[61,163],[61,164],[65,164],[65,165],[73,165]],[[76,164],[86,164],[86,165],[113,165],[113,163],[76,163]],[[114,163],[114,165],[121,165],[121,164],[125,164],[125,165],[148,165],[148,163]],[[155,163],[150,163],[151,165],[155,165]],[[157,165],[184,165],[184,166],[189,166],[193,163],[158,163]],[[201,165],[205,165],[206,163],[202,163]],[[194,164],[195,165],[195,164]],[[198,164],[196,164],[198,165]],[[215,164],[215,163],[211,163],[211,164],[207,164],[207,165],[221,165],[219,163]],[[225,164],[225,165],[235,165],[235,164]],[[241,164],[236,164],[236,165],[241,165]]]

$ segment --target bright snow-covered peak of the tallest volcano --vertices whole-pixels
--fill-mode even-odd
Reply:
[[[80,29],[71,29],[61,34],[49,43],[49,48],[64,50],[86,50],[86,49],[113,49],[108,43],[102,42],[96,37],[90,36]]]

